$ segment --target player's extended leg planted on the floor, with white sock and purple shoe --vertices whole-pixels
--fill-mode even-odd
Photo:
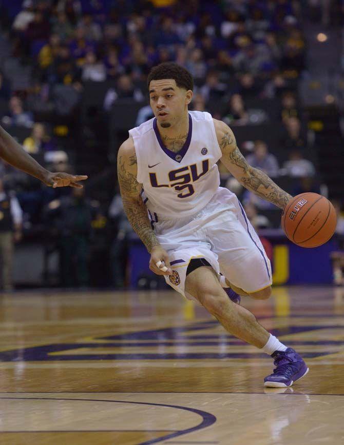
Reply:
[[[187,273],[185,292],[196,298],[232,335],[274,358],[276,368],[265,377],[264,386],[288,387],[308,373],[304,361],[292,348],[269,334],[250,311],[228,299],[211,267],[202,266]]]

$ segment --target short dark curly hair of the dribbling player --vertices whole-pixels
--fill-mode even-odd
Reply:
[[[194,89],[193,76],[175,62],[164,62],[152,68],[147,77],[147,87],[149,88],[151,80],[161,79],[174,79],[176,80],[177,87],[185,88],[185,90]]]

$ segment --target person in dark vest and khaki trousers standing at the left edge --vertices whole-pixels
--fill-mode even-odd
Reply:
[[[13,289],[12,265],[13,243],[22,239],[23,211],[17,198],[4,188],[0,179],[0,251],[2,264],[2,288],[4,291]]]

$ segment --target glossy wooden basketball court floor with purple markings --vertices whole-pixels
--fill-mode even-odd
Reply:
[[[307,361],[272,360],[174,291],[3,294],[0,443],[344,443],[344,288],[243,298]]]

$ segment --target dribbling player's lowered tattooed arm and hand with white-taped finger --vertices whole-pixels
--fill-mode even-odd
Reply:
[[[149,269],[157,275],[171,275],[168,254],[160,246],[158,238],[151,228],[147,209],[141,198],[142,185],[137,181],[137,158],[132,137],[121,145],[117,157],[117,173],[123,200],[124,211],[131,227],[139,235],[150,253]],[[163,261],[168,268],[163,272],[157,262]]]

